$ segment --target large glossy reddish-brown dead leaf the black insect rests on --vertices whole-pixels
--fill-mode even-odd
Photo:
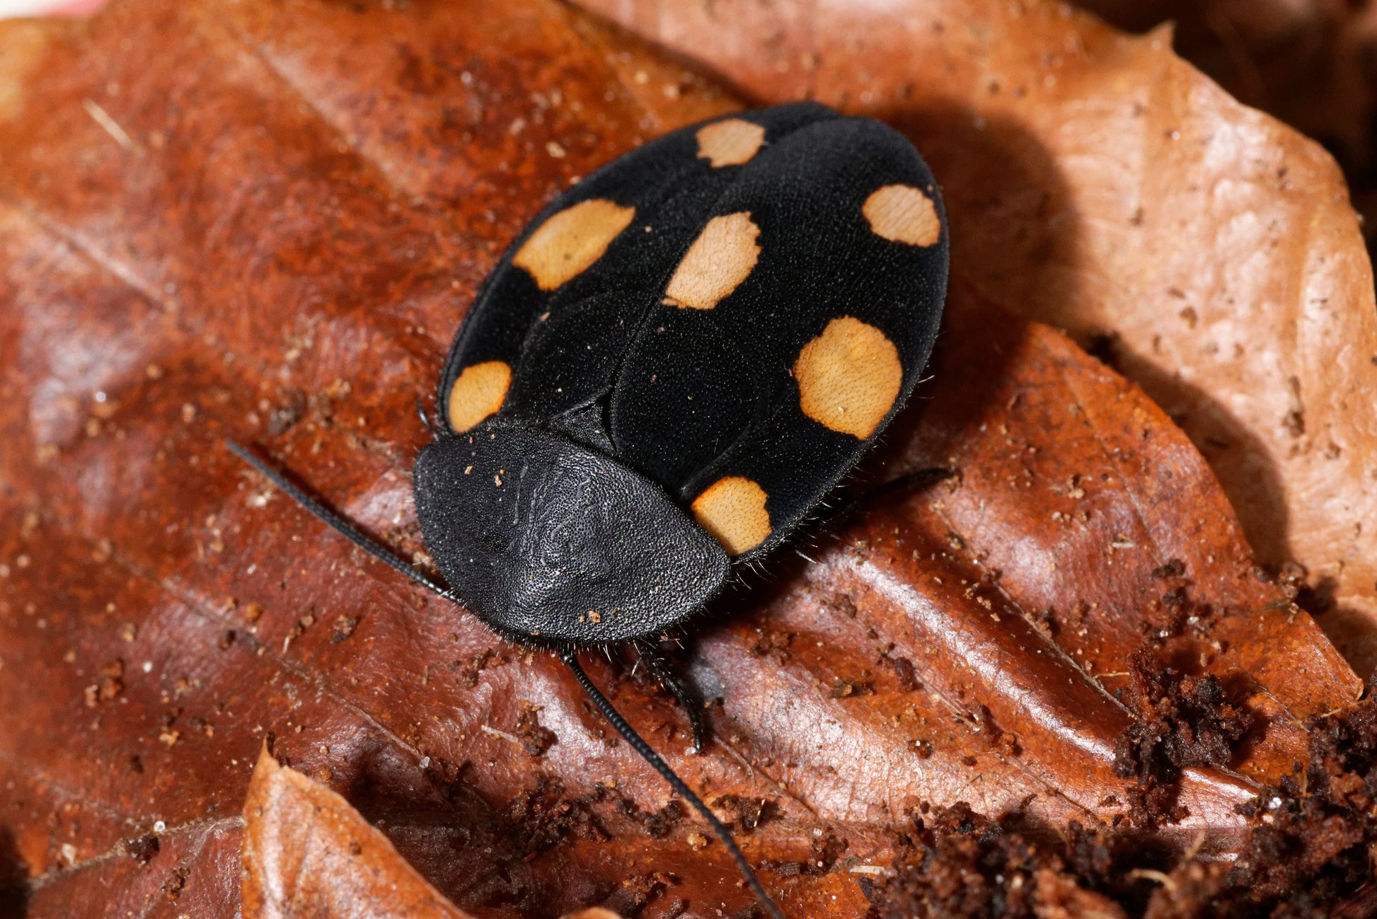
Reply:
[[[269,732],[465,913],[748,908],[722,846],[558,660],[376,565],[222,446],[259,444],[424,564],[414,404],[501,248],[574,177],[737,100],[541,0],[127,0],[26,34],[43,80],[0,117],[0,864],[29,916],[231,913]],[[1037,106],[1066,114],[1058,99]],[[982,136],[1022,136],[928,114],[964,124],[972,162]],[[1056,263],[996,271],[1027,267],[1034,224],[982,223],[956,155],[932,158],[961,233],[1002,227],[1009,252],[957,274],[934,380],[859,505],[704,618],[684,664],[720,699],[713,747],[687,755],[664,692],[585,662],[723,819],[752,824],[744,849],[790,915],[862,915],[852,868],[890,858],[924,802],[1142,831],[1114,775],[1139,713],[1114,681],[1144,638],[1254,725],[1227,764],[1186,770],[1168,843],[1237,846],[1234,806],[1305,757],[1307,717],[1359,691],[1254,575],[1168,415],[991,307],[1051,303],[1036,282],[1055,288]],[[956,476],[899,482],[932,466]],[[555,739],[538,753],[518,736],[536,726]]]

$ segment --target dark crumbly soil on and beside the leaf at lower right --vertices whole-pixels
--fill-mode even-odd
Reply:
[[[1136,662],[1137,663],[1137,662]],[[1135,666],[1135,692],[1159,717],[1126,736],[1133,779],[1168,788],[1172,770],[1227,762],[1242,721],[1206,680]],[[1153,827],[1031,835],[1018,816],[967,805],[912,814],[896,874],[870,889],[870,919],[1067,916],[1311,919],[1377,915],[1377,700],[1314,718],[1308,768],[1296,766],[1239,810],[1252,828],[1232,864],[1168,858]],[[1147,768],[1143,768],[1147,764]],[[1161,816],[1161,814],[1158,814]]]

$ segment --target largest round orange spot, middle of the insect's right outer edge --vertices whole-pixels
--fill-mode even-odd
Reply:
[[[793,365],[803,414],[865,440],[899,398],[899,349],[874,326],[843,316],[803,345]]]

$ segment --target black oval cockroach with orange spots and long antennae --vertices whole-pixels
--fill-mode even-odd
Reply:
[[[450,589],[235,451],[508,640],[559,649],[779,915],[574,651],[683,623],[818,506],[917,382],[946,275],[936,183],[899,133],[814,103],[739,113],[585,177],[487,278],[414,468]]]

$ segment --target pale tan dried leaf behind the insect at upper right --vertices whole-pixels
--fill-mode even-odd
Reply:
[[[1190,435],[1260,560],[1377,664],[1377,307],[1338,169],[1180,61],[1056,3],[584,0],[761,100],[906,131],[952,270],[1099,348]]]

